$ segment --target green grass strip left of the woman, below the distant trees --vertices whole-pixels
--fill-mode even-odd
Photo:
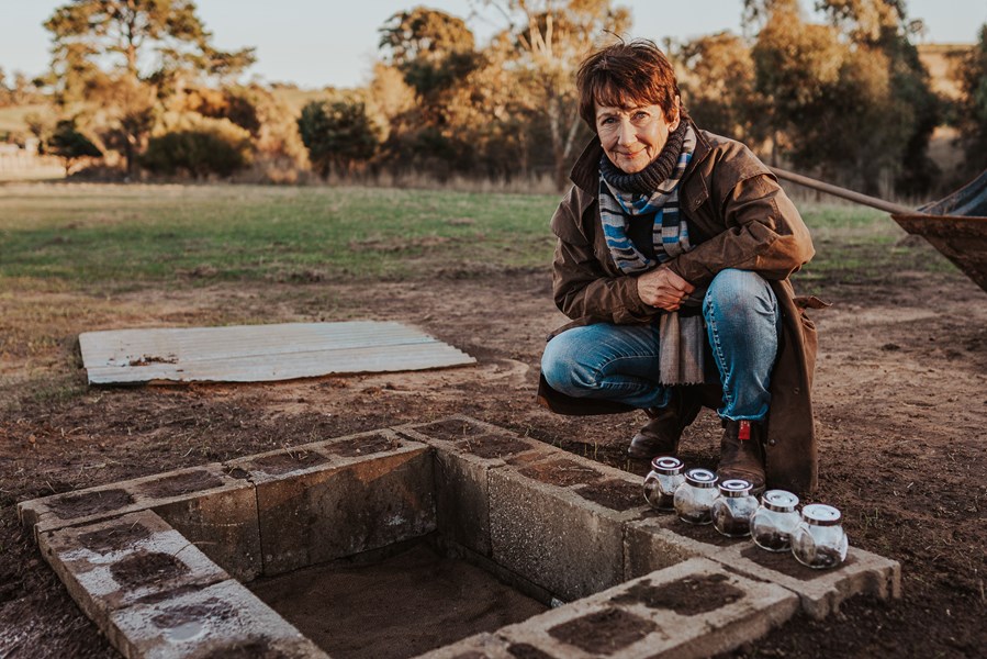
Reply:
[[[49,186],[0,197],[0,277],[152,282],[420,278],[543,267],[558,199],[369,188]]]

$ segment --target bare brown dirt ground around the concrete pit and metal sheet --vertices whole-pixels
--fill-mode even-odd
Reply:
[[[647,471],[623,455],[642,414],[562,417],[534,403],[543,337],[563,321],[546,272],[315,282],[302,292],[279,286],[74,299],[98,311],[63,321],[48,362],[16,350],[4,357],[3,392],[16,398],[18,379],[31,387],[22,373],[36,380],[38,369],[85,382],[79,332],[210,324],[217,309],[270,322],[401,321],[479,364],[254,386],[91,389],[58,403],[24,396],[0,417],[0,658],[116,656],[19,526],[19,501],[452,413]],[[844,512],[851,544],[901,562],[904,596],[859,597],[823,622],[797,617],[731,656],[984,656],[987,293],[955,272],[822,288],[834,304],[814,314],[821,472],[809,501]],[[719,433],[716,415],[704,411],[687,431],[686,462],[715,466]]]

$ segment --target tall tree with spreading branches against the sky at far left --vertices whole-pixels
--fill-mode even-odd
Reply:
[[[114,105],[117,138],[109,142],[122,149],[131,174],[150,130],[148,98],[167,96],[182,76],[229,76],[254,62],[251,48],[213,48],[191,0],[72,0],[45,29],[53,35],[56,98],[63,107],[93,97]],[[114,96],[120,90],[126,93]]]

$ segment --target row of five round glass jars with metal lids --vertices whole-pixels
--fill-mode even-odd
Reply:
[[[685,470],[682,460],[658,457],[644,478],[644,499],[659,511],[675,511],[689,524],[713,524],[727,537],[751,536],[762,549],[788,551],[810,568],[832,568],[846,558],[840,511],[821,503],[796,511],[798,496],[764,492],[760,503],[743,479],[717,482],[708,469]]]

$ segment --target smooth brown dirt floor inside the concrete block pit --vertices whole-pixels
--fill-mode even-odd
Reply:
[[[548,607],[425,541],[380,560],[336,561],[248,583],[339,659],[405,659]]]

